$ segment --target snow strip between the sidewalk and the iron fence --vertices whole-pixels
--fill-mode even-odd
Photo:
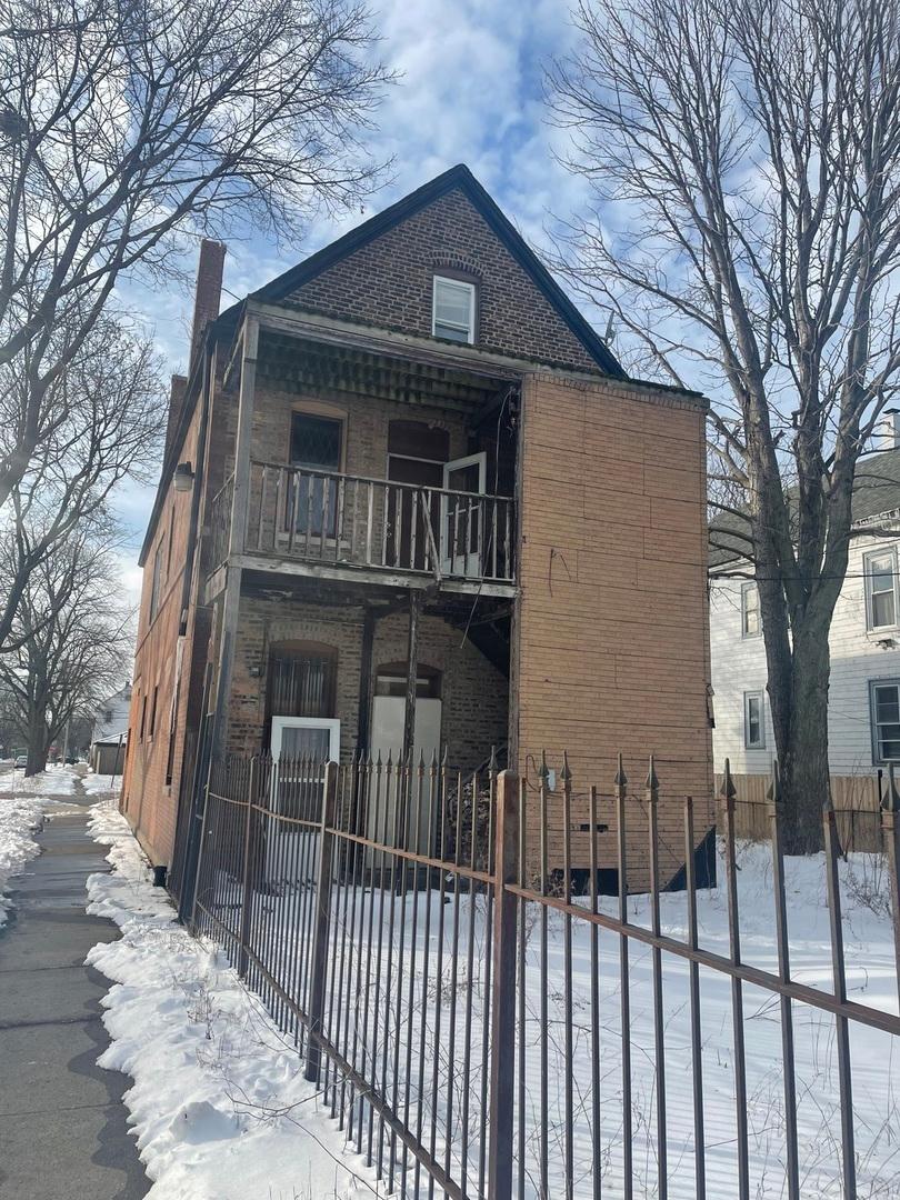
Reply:
[[[88,955],[115,980],[98,1062],[134,1080],[125,1103],[154,1184],[148,1200],[379,1194],[343,1152],[293,1044],[215,947],[176,923],[112,800],[94,806],[90,829],[110,846],[113,871],[88,880],[88,911],[122,931]]]

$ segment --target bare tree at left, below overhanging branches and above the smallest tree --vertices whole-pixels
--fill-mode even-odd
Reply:
[[[64,320],[54,341],[65,343],[70,332]],[[29,388],[22,359],[0,366],[0,454],[12,446],[14,414],[30,403]],[[164,430],[151,346],[107,314],[54,378],[44,403],[56,414],[54,428],[12,487],[0,524],[0,655],[19,646],[16,616],[31,574],[68,539],[77,546],[108,529],[110,493],[126,478],[148,476]],[[70,565],[74,569],[71,557]],[[62,599],[65,590],[55,595]],[[49,608],[44,613],[53,616]]]

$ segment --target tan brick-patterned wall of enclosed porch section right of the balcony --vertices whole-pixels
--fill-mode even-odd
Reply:
[[[613,382],[533,377],[523,389],[518,764],[568,750],[576,792],[601,793],[601,865],[613,866],[616,755],[630,790],[632,883],[646,886],[643,781],[656,755],[664,875],[684,862],[683,799],[712,797],[707,719],[704,416]],[[532,793],[534,794],[534,793]],[[562,856],[560,793],[551,851]],[[697,818],[698,833],[704,822]],[[532,823],[532,828],[535,826]],[[575,865],[588,841],[572,834]]]

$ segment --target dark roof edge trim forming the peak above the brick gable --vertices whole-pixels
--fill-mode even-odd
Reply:
[[[414,192],[397,200],[396,204],[391,204],[390,208],[370,217],[368,221],[364,221],[362,224],[356,226],[355,229],[350,229],[342,238],[305,258],[296,266],[292,266],[283,275],[270,280],[264,287],[251,293],[250,299],[266,300],[275,304],[284,300],[292,293],[296,292],[298,288],[314,280],[336,263],[342,262],[349,254],[354,253],[354,251],[367,246],[376,238],[380,238],[389,229],[394,229],[415,212],[419,212],[439,197],[454,190],[462,192],[480,214],[494,236],[528,275],[570,332],[581,342],[590,358],[596,362],[598,367],[608,376],[622,379],[626,378],[625,371],[622,368],[616,355],[607,348],[596,330],[578,312],[546,266],[544,266],[534,251],[528,246],[524,238],[522,238],[512,222],[500,211],[496,200],[488,196],[464,163],[451,167],[442,175],[436,176],[427,184],[418,187]]]

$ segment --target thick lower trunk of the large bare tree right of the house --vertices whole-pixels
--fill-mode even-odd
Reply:
[[[822,848],[822,806],[830,793],[828,626],[828,620],[809,616],[794,626],[787,727],[782,722],[782,728],[775,728],[787,854],[812,854]]]

